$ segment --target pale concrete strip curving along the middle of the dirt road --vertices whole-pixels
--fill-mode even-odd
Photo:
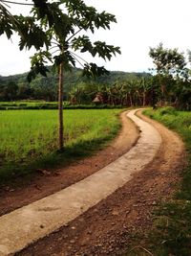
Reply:
[[[161,143],[159,132],[135,116],[136,111],[127,114],[141,129],[138,143],[130,151],[96,174],[0,218],[0,254],[19,251],[73,221],[153,160]]]

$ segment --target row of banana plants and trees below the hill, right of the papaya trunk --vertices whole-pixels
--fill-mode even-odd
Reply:
[[[116,81],[112,86],[81,82],[69,93],[72,105],[175,105],[191,110],[191,82],[172,76]]]

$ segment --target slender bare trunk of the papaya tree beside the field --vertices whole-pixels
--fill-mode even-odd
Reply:
[[[59,65],[59,82],[58,82],[58,149],[64,149],[64,125],[63,125],[63,63]]]

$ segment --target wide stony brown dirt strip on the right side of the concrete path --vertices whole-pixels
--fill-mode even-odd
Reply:
[[[16,255],[120,255],[131,244],[132,234],[151,226],[153,208],[171,198],[179,184],[185,153],[177,134],[142,118],[162,137],[154,161],[116,193]]]

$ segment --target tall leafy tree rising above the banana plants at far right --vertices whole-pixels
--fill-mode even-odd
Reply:
[[[174,103],[180,109],[191,109],[191,77],[188,60],[178,49],[164,48],[162,43],[150,48],[149,56],[153,58],[157,72],[156,84],[159,87],[161,103]]]

